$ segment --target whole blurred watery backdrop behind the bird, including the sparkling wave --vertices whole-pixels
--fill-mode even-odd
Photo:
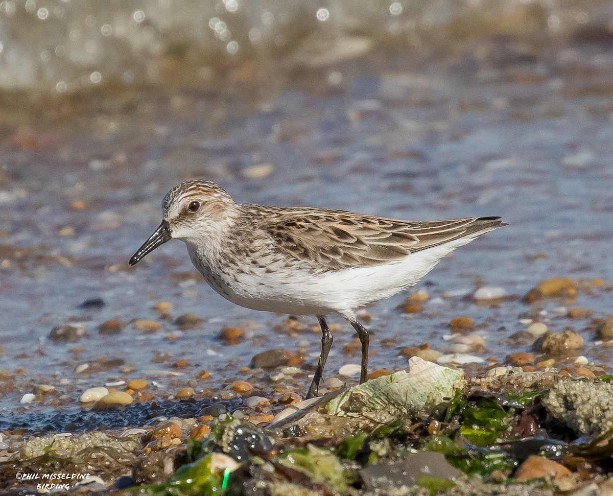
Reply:
[[[484,359],[529,350],[510,338],[526,322],[569,323],[560,302],[518,297],[554,276],[611,281],[612,48],[609,1],[0,1],[0,367],[34,381],[101,357],[143,370],[184,356],[235,374],[278,346],[314,364],[318,329],[271,331],[284,316],[223,300],[181,243],[128,266],[166,191],[190,178],[240,202],[503,216],[511,226],[416,288],[425,313],[396,310],[406,294],[368,308],[371,365],[404,367],[399,346],[449,351],[457,315],[481,326],[485,346],[469,351]],[[476,304],[484,285],[512,303]],[[131,327],[158,321],[159,302],[204,324]],[[608,290],[574,304],[611,311]],[[108,319],[124,330],[99,334]],[[89,337],[50,344],[70,322]],[[223,346],[224,326],[252,338]],[[572,326],[593,344],[589,322]],[[338,332],[330,370],[357,360],[342,351],[351,327]],[[592,344],[590,359],[611,362]],[[86,382],[121,375],[104,374]]]

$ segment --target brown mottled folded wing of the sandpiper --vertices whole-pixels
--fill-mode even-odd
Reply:
[[[498,217],[409,222],[340,210],[283,208],[262,228],[278,250],[318,269],[341,270],[400,260],[502,225]]]

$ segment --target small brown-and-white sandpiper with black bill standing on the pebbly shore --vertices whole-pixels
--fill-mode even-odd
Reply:
[[[494,216],[411,222],[327,208],[237,204],[204,180],[170,189],[162,215],[130,265],[180,239],[211,288],[231,302],[317,317],[321,354],[307,398],[318,394],[332,346],[328,314],[340,314],[356,329],[363,383],[369,339],[356,309],[413,286],[458,246],[506,225]]]

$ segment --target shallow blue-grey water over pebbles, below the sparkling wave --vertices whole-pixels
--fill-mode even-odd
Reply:
[[[510,223],[457,250],[416,286],[430,296],[421,313],[395,310],[407,294],[368,307],[371,370],[405,368],[402,347],[458,351],[446,336],[459,315],[476,320],[485,349],[465,351],[483,359],[504,362],[511,352],[530,351],[509,337],[525,330],[520,319],[531,318],[584,336],[585,347],[568,354],[571,364],[584,354],[613,365],[610,348],[595,345],[591,319],[568,319],[560,308],[611,312],[613,56],[610,38],[596,35],[546,44],[485,36],[417,53],[383,44],[324,67],[284,66],[267,85],[249,83],[247,64],[246,75],[237,69],[227,84],[206,89],[109,90],[50,102],[40,122],[16,121],[7,111],[0,127],[0,209],[8,220],[0,226],[0,408],[51,411],[50,399],[19,405],[40,383],[66,395],[59,405],[67,411],[78,410],[84,389],[132,378],[156,381],[159,397],[186,385],[231,396],[226,386],[238,378],[264,395],[288,384],[306,390],[318,330],[275,330],[285,316],[227,302],[202,281],[180,242],[128,266],[158,226],[166,191],[198,177],[241,202],[415,220],[501,215]],[[556,276],[602,278],[604,287],[542,308],[512,298],[482,306],[471,298],[484,285],[523,296]],[[96,297],[102,308],[79,308]],[[192,312],[204,324],[179,331],[159,319],[158,302],[173,304],[173,318]],[[154,334],[132,324],[121,334],[99,334],[112,318],[162,325]],[[341,326],[326,369],[338,376],[359,354],[343,352],[354,339],[351,326],[330,321]],[[52,327],[70,322],[83,324],[88,336],[48,340]],[[316,319],[300,322],[310,327]],[[224,326],[245,326],[245,339],[225,345],[217,338]],[[305,349],[304,373],[275,385],[263,373],[240,371],[271,348]],[[558,364],[568,363],[563,358]],[[105,365],[111,359],[119,361]],[[180,359],[188,367],[173,367]],[[83,363],[93,367],[75,373]],[[200,370],[211,379],[197,380]]]

